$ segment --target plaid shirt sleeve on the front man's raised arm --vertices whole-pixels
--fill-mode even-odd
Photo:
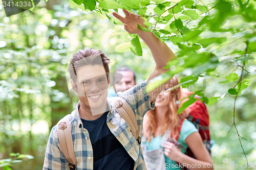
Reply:
[[[150,95],[146,92],[147,80],[133,86],[129,90],[118,92],[117,96],[120,96],[132,107],[135,114],[139,116],[144,116],[148,110],[153,110],[155,108],[154,100],[150,102]]]

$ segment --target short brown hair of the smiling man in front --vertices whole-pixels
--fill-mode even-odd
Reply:
[[[79,67],[84,65],[103,64],[106,72],[106,78],[109,81],[109,63],[110,59],[108,59],[108,57],[106,57],[105,54],[99,50],[94,50],[89,47],[84,48],[84,50],[78,50],[77,53],[73,54],[72,58],[70,59],[70,64],[68,65],[70,78],[76,83],[76,71]]]

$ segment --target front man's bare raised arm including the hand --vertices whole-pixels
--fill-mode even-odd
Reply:
[[[151,79],[166,72],[167,69],[164,69],[163,67],[166,66],[166,63],[168,61],[176,59],[176,56],[174,55],[172,50],[170,50],[170,48],[165,43],[162,43],[153,32],[145,32],[138,27],[138,25],[141,27],[146,27],[144,25],[144,19],[142,19],[141,17],[138,17],[135,14],[128,12],[127,10],[123,10],[123,12],[125,14],[125,17],[122,17],[115,12],[113,13],[113,15],[117,19],[119,19],[121,22],[124,23],[124,29],[128,33],[137,34],[141,37],[141,39],[143,39],[143,41],[150,48],[153,54],[153,57],[155,59],[156,67],[152,71],[150,77],[148,77],[147,79],[147,83],[148,83],[148,81],[150,81]],[[158,94],[163,90],[163,87],[167,83],[168,81],[166,81],[163,85],[161,85],[157,89],[149,92],[151,102],[153,102],[157,98]]]

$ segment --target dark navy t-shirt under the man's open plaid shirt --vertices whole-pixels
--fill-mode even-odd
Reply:
[[[81,118],[83,127],[89,132],[93,147],[93,169],[132,170],[134,168],[133,158],[106,125],[108,113],[109,111],[105,112],[96,120]]]

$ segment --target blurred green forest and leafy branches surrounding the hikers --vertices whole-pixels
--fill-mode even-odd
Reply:
[[[111,12],[117,8],[147,16],[146,31],[153,31],[179,58],[168,64],[170,72],[162,78],[176,74],[183,87],[203,96],[216,169],[223,169],[223,163],[238,163],[230,169],[242,169],[243,163],[245,169],[244,154],[249,164],[256,163],[256,2],[156,0],[139,1],[140,8],[133,0],[131,7],[124,1],[103,2],[41,0],[33,12],[10,17],[0,3],[0,169],[42,168],[51,128],[78,102],[66,79],[77,50],[103,51],[111,72],[129,66],[137,83],[149,76],[153,57],[114,20]]]

